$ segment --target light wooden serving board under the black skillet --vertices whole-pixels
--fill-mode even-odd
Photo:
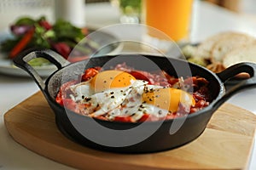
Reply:
[[[76,144],[61,134],[55,115],[38,92],[4,115],[10,135],[39,155],[80,169],[246,169],[256,116],[224,104],[198,139],[174,150],[117,154]]]

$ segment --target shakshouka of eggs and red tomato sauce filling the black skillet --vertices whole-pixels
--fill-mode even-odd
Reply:
[[[123,63],[111,70],[85,70],[79,80],[62,84],[55,101],[80,115],[106,121],[160,121],[209,105],[208,83],[204,77],[173,77],[166,71],[139,71]]]

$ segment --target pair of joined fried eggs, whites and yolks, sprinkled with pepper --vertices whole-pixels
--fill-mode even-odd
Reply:
[[[181,89],[148,85],[124,71],[102,71],[87,82],[73,85],[71,90],[80,113],[106,116],[108,120],[131,116],[137,122],[146,113],[165,117],[176,112],[180,103],[195,105],[192,95]]]

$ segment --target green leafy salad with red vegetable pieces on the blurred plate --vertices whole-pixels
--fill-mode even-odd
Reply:
[[[5,58],[10,60],[28,49],[49,48],[70,62],[76,62],[96,53],[100,46],[86,37],[90,33],[88,28],[73,26],[66,20],[56,20],[51,24],[44,16],[38,20],[21,17],[9,27],[9,31],[9,36],[1,42],[0,48]],[[47,59],[38,58],[32,59],[30,65],[50,64]]]

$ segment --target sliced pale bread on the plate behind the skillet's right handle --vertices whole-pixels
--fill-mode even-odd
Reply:
[[[243,61],[256,63],[256,38],[242,32],[225,31],[208,37],[189,50],[190,62],[203,65],[213,72],[224,71]],[[248,77],[239,74],[238,77]]]

